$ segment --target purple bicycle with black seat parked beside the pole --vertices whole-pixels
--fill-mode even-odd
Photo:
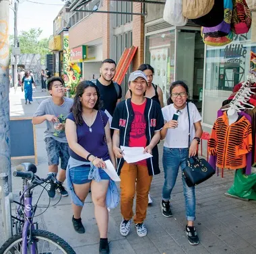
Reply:
[[[45,189],[42,184],[59,184],[56,173],[49,173],[45,179],[42,179],[36,175],[36,166],[32,163],[22,163],[16,169],[13,176],[21,177],[23,181],[20,202],[15,202],[18,204],[18,209],[15,216],[11,216],[16,232],[2,245],[0,254],[75,254],[72,247],[61,237],[52,232],[38,229],[38,223],[33,222],[38,201]],[[32,205],[33,189],[38,185],[43,189],[36,204]]]

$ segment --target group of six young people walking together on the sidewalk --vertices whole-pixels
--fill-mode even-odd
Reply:
[[[113,81],[115,71],[115,61],[104,60],[100,78],[80,82],[73,99],[64,97],[63,80],[51,77],[47,84],[51,97],[42,101],[32,120],[33,124],[46,121],[44,140],[49,157],[49,171],[57,173],[61,159],[58,180],[63,183],[67,177],[72,198],[72,222],[78,233],[86,231],[81,214],[84,201],[88,193],[92,192],[100,232],[99,253],[110,251],[106,208],[110,177],[104,171],[104,161],[110,159],[121,178],[121,235],[129,234],[133,218],[137,235],[145,237],[147,228],[144,220],[150,185],[152,177],[160,173],[158,142],[164,139],[164,186],[160,207],[163,216],[171,217],[170,194],[179,167],[183,170],[188,157],[197,153],[197,144],[202,134],[201,116],[195,105],[188,101],[189,89],[183,81],[170,85],[170,98],[168,105],[164,107],[162,90],[152,83],[154,69],[143,64],[129,75],[126,99],[121,101],[121,86]],[[179,114],[178,120],[172,120],[174,113]],[[113,116],[111,124],[109,114]],[[127,163],[120,146],[143,146],[144,153],[150,153],[153,157],[137,163]],[[68,195],[63,185],[51,185],[51,197],[55,196],[55,189],[63,196]],[[183,179],[183,189],[187,213],[185,231],[189,243],[197,245],[199,239],[193,226],[195,188],[188,187]],[[133,216],[135,194],[136,208]]]

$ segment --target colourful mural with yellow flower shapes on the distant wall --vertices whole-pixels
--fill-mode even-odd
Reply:
[[[71,93],[82,77],[82,62],[70,62],[69,36],[63,36],[63,71],[61,77],[65,82],[65,87],[71,88]]]

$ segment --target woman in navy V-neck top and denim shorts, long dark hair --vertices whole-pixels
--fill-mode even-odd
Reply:
[[[108,117],[99,108],[98,87],[90,81],[79,83],[71,113],[67,116],[65,124],[70,155],[67,184],[71,190],[73,227],[78,233],[85,232],[81,212],[91,189],[95,218],[100,231],[100,253],[109,253],[106,192],[110,178],[104,171],[104,161],[110,159],[115,168],[116,162]]]

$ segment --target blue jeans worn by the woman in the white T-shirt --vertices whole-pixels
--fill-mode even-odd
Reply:
[[[162,188],[162,199],[164,201],[170,200],[170,194],[176,183],[179,173],[185,169],[187,159],[189,158],[189,149],[170,149],[164,146],[164,153],[162,156],[162,164],[164,167],[164,187]],[[195,220],[195,187],[188,187],[187,183],[182,177],[183,193],[185,196],[185,206],[187,220]]]

